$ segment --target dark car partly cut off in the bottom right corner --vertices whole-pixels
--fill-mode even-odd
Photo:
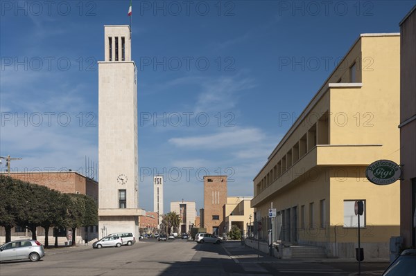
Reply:
[[[416,249],[401,252],[400,256],[388,266],[381,276],[415,276]]]

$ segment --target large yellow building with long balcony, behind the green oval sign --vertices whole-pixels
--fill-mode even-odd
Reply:
[[[379,159],[400,161],[399,94],[399,34],[361,35],[254,178],[260,238],[273,229],[274,241],[354,257],[354,203],[363,200],[364,256],[388,257],[390,237],[399,236],[399,183],[374,185],[365,169]]]

